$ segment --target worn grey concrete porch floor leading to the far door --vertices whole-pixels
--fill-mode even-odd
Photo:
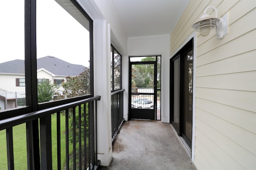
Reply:
[[[161,121],[125,121],[112,156],[100,170],[196,170],[170,124]]]

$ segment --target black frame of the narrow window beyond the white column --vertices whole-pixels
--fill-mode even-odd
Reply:
[[[114,78],[114,66],[112,65],[112,68],[111,68],[111,72],[112,72],[112,76],[111,76],[111,80],[112,80],[112,83],[111,83],[111,92],[115,92],[115,91],[118,91],[118,90],[121,90],[122,89],[122,55],[121,53],[119,53],[119,51],[114,47],[114,45],[111,44],[111,52],[112,52],[112,55],[111,55],[111,58],[112,58],[112,62],[114,62],[114,54],[115,52],[118,53],[118,55],[120,55],[120,88],[119,89],[115,89],[115,78]]]

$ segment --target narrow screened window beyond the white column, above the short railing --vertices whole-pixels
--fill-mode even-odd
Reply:
[[[122,55],[111,45],[111,91],[122,89]]]

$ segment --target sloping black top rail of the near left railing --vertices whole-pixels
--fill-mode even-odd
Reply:
[[[38,119],[40,117],[44,117],[48,114],[56,113],[58,111],[62,111],[62,110],[65,110],[65,109],[69,109],[71,107],[78,106],[80,104],[92,102],[94,100],[100,100],[100,97],[101,96],[95,96],[95,97],[87,98],[87,99],[84,99],[84,100],[79,100],[79,101],[76,101],[76,102],[71,102],[71,103],[68,103],[68,104],[63,104],[63,105],[60,105],[60,106],[50,107],[50,108],[47,108],[47,109],[42,109],[42,110],[39,110],[39,111],[34,111],[34,112],[26,113],[26,114],[23,114],[23,115],[18,115],[18,116],[15,116],[15,117],[10,117],[10,118],[7,118],[7,119],[0,120],[0,131],[3,130],[3,129],[7,129],[9,127],[13,127],[13,126],[16,126],[16,125],[20,125],[22,123],[26,123],[28,121],[32,121],[34,119]]]

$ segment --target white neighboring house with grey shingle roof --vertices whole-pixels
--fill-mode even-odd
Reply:
[[[78,76],[85,66],[71,64],[52,56],[37,59],[37,80],[43,79],[64,88],[62,82],[67,76]],[[13,60],[0,63],[0,107],[10,109],[25,105],[25,73],[24,60]]]

